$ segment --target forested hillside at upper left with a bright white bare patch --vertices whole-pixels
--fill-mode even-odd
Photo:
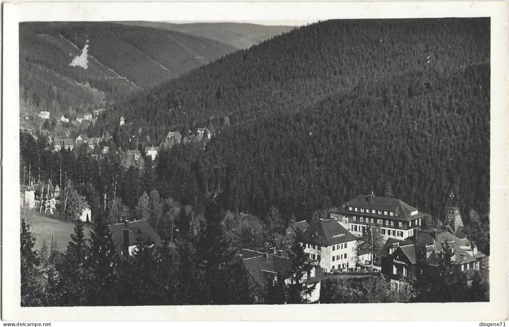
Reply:
[[[25,22],[19,37],[21,101],[54,116],[104,108],[235,50],[203,37],[107,22]],[[70,66],[87,40],[87,68]]]

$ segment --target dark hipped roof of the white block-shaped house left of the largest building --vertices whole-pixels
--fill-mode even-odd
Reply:
[[[345,227],[333,219],[320,220],[302,233],[302,240],[320,246],[331,246],[357,240]]]

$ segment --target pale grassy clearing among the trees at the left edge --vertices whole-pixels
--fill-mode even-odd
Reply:
[[[83,230],[84,234],[89,236],[92,228],[85,225]],[[46,242],[49,249],[51,235],[54,234],[53,249],[64,252],[67,249],[67,244],[71,241],[74,223],[34,213],[30,218],[30,231],[36,238],[35,249],[39,249],[44,242]]]

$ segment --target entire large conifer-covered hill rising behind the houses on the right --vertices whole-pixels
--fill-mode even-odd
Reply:
[[[144,146],[214,128],[205,152],[182,145],[156,159],[183,202],[221,191],[230,210],[308,218],[389,185],[439,219],[453,204],[484,215],[487,35],[482,18],[319,22],[135,96],[91,132],[122,146],[143,127]]]

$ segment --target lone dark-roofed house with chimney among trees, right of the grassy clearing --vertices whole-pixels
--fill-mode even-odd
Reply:
[[[152,228],[148,220],[125,221],[109,225],[109,231],[111,232],[111,240],[121,258],[132,256],[136,251],[139,234],[148,240],[149,246],[160,247],[162,245],[161,237]]]

